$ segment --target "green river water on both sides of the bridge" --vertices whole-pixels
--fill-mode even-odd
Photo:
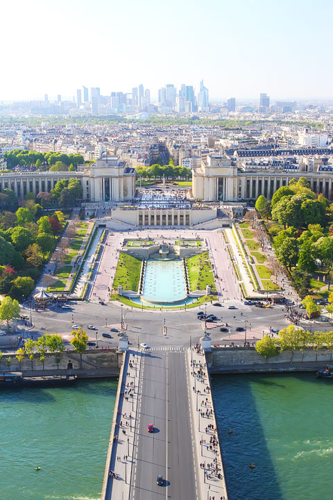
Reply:
[[[212,385],[230,500],[333,498],[333,381],[226,375]],[[1,499],[98,500],[116,390],[103,380],[0,392]]]

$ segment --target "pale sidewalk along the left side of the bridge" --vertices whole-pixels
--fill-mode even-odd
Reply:
[[[126,500],[130,495],[130,483],[133,467],[134,442],[137,420],[137,391],[139,385],[141,356],[136,351],[129,351],[123,364],[123,377],[119,394],[119,404],[114,407],[114,435],[105,488],[105,500]],[[108,457],[109,458],[109,457]],[[108,460],[108,459],[107,459]]]

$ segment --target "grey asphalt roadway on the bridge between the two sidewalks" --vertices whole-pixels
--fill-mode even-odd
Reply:
[[[144,354],[131,500],[196,500],[185,351]],[[148,433],[153,424],[154,433]],[[156,478],[162,474],[164,484]]]

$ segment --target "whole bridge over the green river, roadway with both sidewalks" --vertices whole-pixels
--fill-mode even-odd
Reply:
[[[101,499],[163,498],[228,499],[205,354],[195,348],[123,355]]]

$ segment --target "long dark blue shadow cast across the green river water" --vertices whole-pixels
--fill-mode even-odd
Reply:
[[[265,382],[255,378],[256,383]],[[212,376],[229,499],[282,500],[278,476],[250,387],[252,379],[252,375]],[[269,385],[267,383],[268,388]],[[230,429],[232,433],[228,434]],[[250,469],[251,462],[254,462],[255,469]]]

